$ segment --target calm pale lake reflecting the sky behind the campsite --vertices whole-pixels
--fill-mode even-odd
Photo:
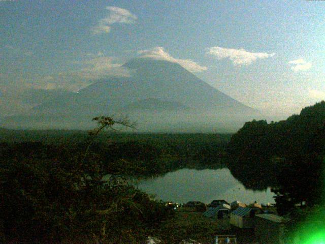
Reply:
[[[156,199],[186,203],[201,201],[210,203],[214,199],[235,200],[252,203],[274,203],[274,194],[265,191],[247,190],[230,172],[223,169],[180,169],[163,176],[139,180],[136,185]]]

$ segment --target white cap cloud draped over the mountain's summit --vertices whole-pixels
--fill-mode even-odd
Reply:
[[[172,57],[169,53],[165,52],[163,47],[155,47],[148,50],[139,51],[142,58],[152,58],[158,60],[167,60],[172,63],[177,63],[181,65],[183,68],[187,69],[190,72],[202,72],[207,70],[208,68],[205,66],[201,66],[194,62],[191,59],[179,59]]]

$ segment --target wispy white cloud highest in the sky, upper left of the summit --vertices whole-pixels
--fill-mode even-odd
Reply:
[[[109,11],[108,16],[101,19],[97,25],[91,28],[92,34],[109,33],[111,31],[111,25],[114,23],[134,23],[137,20],[137,16],[132,14],[126,9],[108,6],[106,9]]]

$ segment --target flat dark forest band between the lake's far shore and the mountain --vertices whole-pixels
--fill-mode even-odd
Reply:
[[[17,133],[30,134],[25,140],[0,143],[0,153],[4,159],[32,156],[66,160],[66,152],[62,148],[66,148],[71,157],[77,157],[83,153],[88,143],[86,140],[76,140],[73,134],[69,133],[62,138],[56,131],[52,131],[58,134],[52,134],[51,139],[36,142],[30,140],[38,138],[41,132],[36,132],[36,135],[28,131]],[[163,174],[183,167],[223,167],[225,146],[230,138],[229,135],[213,134],[105,134],[105,136],[100,135],[89,148],[97,160],[103,163],[104,172],[142,177]],[[75,137],[83,137],[83,134],[76,133]]]

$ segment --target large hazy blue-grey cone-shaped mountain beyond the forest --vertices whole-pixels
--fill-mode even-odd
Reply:
[[[235,130],[258,115],[179,64],[135,58],[124,68],[131,70],[131,77],[98,80],[36,106],[24,119],[9,117],[5,126],[82,129],[91,126],[93,116],[114,114],[138,120],[139,129],[146,131]]]

